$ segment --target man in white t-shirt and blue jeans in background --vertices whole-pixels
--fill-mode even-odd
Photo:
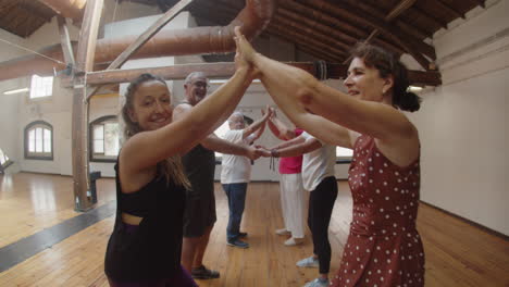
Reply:
[[[265,122],[270,112],[246,127],[244,114],[233,113],[228,118],[229,130],[224,139],[239,145],[251,145],[265,129]],[[238,248],[248,248],[249,245],[243,240],[246,233],[240,232],[244,207],[246,202],[247,184],[251,177],[251,161],[243,155],[224,154],[221,169],[221,184],[228,198],[229,217],[226,227],[226,244]]]

